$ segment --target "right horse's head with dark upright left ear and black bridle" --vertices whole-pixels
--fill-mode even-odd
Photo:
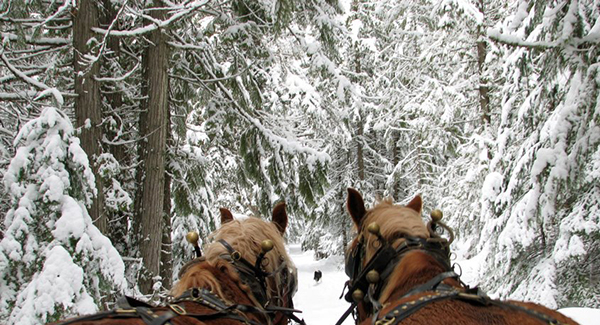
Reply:
[[[347,208],[357,236],[346,254],[346,300],[357,303],[361,319],[379,310],[392,294],[450,268],[448,241],[436,232],[437,226],[449,228],[439,218],[425,224],[422,205],[417,195],[406,205],[385,199],[367,209],[360,193],[348,189]]]

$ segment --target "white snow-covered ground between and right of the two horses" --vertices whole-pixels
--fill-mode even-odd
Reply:
[[[294,307],[303,311],[298,316],[304,318],[307,325],[335,324],[350,306],[344,299],[339,299],[347,280],[343,271],[343,258],[332,256],[317,261],[314,252],[303,252],[300,244],[289,245],[288,252],[298,268],[298,292],[294,296]],[[477,266],[476,260],[457,261],[457,263],[462,268],[462,280],[469,284],[472,270]],[[323,273],[318,283],[314,280],[316,270]],[[560,311],[581,325],[600,324],[600,309],[563,308]],[[352,316],[349,316],[343,324],[354,324]]]

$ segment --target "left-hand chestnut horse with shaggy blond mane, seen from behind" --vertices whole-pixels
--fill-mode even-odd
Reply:
[[[181,269],[169,303],[152,307],[124,298],[115,310],[58,324],[284,325],[288,319],[303,324],[293,314],[297,271],[284,248],[287,223],[284,203],[275,206],[271,222],[234,220],[222,208],[221,227],[209,236],[204,256]]]

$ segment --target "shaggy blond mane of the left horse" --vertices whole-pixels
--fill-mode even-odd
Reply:
[[[263,260],[265,271],[273,272],[282,262],[286,262],[289,272],[295,272],[294,264],[285,251],[283,237],[277,229],[277,226],[272,222],[266,222],[256,217],[249,217],[243,220],[232,220],[223,224],[221,228],[210,234],[208,239],[210,244],[204,247],[204,258],[206,262],[229,273],[229,275],[237,282],[238,286],[248,293],[248,296],[257,304],[258,302],[252,294],[250,287],[242,283],[231,263],[222,258],[224,256],[229,256],[229,252],[225,246],[218,242],[218,240],[224,239],[235,250],[240,252],[244,259],[254,264],[256,256],[261,252],[261,242],[270,239],[273,242],[273,250],[268,252]],[[191,267],[174,286],[171,294],[177,296],[189,288],[205,287],[211,289],[225,299],[222,295],[221,285],[215,276],[211,275],[209,271],[202,271],[199,270],[199,268],[201,268],[201,265]],[[267,281],[267,294],[277,295],[277,288],[282,288],[282,286],[287,287],[287,283],[282,282],[281,272],[277,272],[272,281]]]

